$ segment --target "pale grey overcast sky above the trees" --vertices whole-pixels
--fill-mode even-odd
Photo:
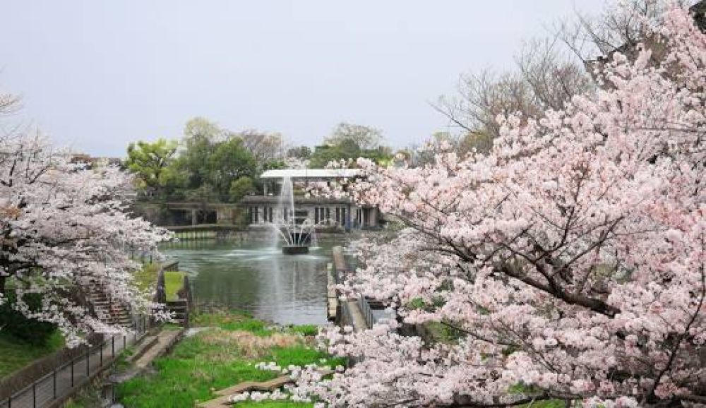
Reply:
[[[315,145],[341,121],[417,143],[460,73],[503,70],[523,39],[602,0],[2,0],[11,118],[59,145],[123,156],[193,116]],[[7,121],[7,119],[4,119]]]

